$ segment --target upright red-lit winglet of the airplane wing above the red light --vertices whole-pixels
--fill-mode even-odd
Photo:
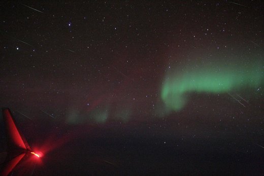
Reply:
[[[9,149],[22,149],[31,150],[28,146],[25,138],[19,133],[14,119],[12,117],[11,111],[8,108],[3,108],[3,118],[6,126],[6,135]]]

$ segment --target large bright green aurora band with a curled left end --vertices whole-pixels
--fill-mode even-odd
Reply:
[[[167,112],[182,110],[188,101],[186,95],[191,92],[220,94],[257,89],[263,84],[260,60],[201,62],[167,72],[161,86]]]

